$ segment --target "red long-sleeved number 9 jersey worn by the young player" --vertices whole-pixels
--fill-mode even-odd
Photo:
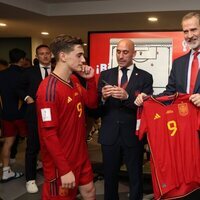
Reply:
[[[37,91],[38,127],[47,181],[64,175],[88,158],[84,105],[97,106],[95,79],[87,91],[72,77],[71,84],[51,74]]]

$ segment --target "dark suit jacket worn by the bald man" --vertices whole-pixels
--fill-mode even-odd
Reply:
[[[152,75],[134,66],[126,87],[128,99],[121,101],[109,97],[104,103],[101,101],[101,90],[105,85],[102,80],[110,85],[118,85],[118,67],[103,71],[99,78],[99,110],[102,118],[99,142],[104,145],[112,145],[121,136],[127,146],[138,145],[138,137],[135,135],[137,106],[134,101],[141,92],[153,93]]]

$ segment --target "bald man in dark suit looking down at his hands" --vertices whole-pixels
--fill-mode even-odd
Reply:
[[[133,64],[136,51],[131,40],[123,39],[117,45],[118,67],[103,71],[98,92],[102,125],[99,142],[102,145],[104,165],[104,199],[117,200],[118,173],[125,163],[130,182],[130,199],[142,199],[143,143],[135,135],[136,96],[152,94],[152,76]],[[127,74],[126,74],[127,72]]]

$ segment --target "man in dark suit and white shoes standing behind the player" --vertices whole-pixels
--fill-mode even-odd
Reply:
[[[36,48],[38,62],[25,70],[20,96],[27,103],[26,121],[28,125],[27,147],[25,156],[26,189],[29,193],[36,193],[36,165],[39,153],[39,137],[36,115],[36,92],[40,82],[51,72],[51,51],[47,45],[39,45]]]

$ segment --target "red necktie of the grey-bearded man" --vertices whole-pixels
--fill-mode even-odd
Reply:
[[[198,55],[200,52],[196,51],[194,52],[194,58],[192,61],[192,67],[191,67],[191,77],[190,77],[190,94],[193,93],[195,88],[195,83],[197,79],[197,74],[199,71],[199,61],[198,61]]]

